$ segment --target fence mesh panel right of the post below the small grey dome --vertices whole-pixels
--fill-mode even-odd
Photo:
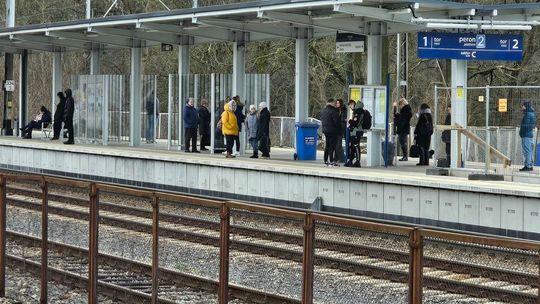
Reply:
[[[407,303],[408,236],[316,222],[315,303]]]

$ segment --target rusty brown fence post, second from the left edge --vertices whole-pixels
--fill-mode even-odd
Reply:
[[[49,183],[42,179],[41,184],[41,304],[47,303],[47,274],[49,269]]]

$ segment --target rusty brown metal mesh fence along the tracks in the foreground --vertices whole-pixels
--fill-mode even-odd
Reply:
[[[193,218],[187,217],[193,210],[206,221],[204,226],[192,229],[192,232],[177,233],[180,238],[199,244],[201,238],[191,235],[196,235],[201,229],[212,231],[211,239],[214,241],[202,241],[197,248],[201,255],[206,254],[206,250],[211,251],[199,258],[199,264],[209,264],[210,270],[203,273],[196,266],[182,268],[182,255],[176,260],[178,266],[175,268],[188,275],[191,273],[192,278],[203,277],[205,282],[215,282],[219,303],[228,303],[230,295],[240,298],[244,295],[245,298],[246,294],[253,295],[254,291],[261,292],[265,303],[422,303],[424,300],[430,302],[427,298],[434,292],[506,299],[505,302],[512,303],[539,301],[538,242],[417,229],[73,179],[6,174],[0,175],[0,297],[6,296],[6,242],[9,238],[6,223],[11,219],[7,216],[6,207],[8,184],[14,183],[25,183],[28,187],[39,189],[40,193],[37,201],[40,203],[41,221],[33,223],[41,223],[42,232],[37,238],[41,248],[36,248],[41,252],[37,259],[41,267],[41,303],[47,302],[48,294],[49,219],[52,213],[49,207],[58,209],[54,206],[57,203],[52,202],[54,199],[51,195],[54,194],[49,190],[57,186],[79,189],[81,195],[81,206],[84,206],[81,212],[85,212],[85,215],[78,219],[87,221],[89,230],[87,259],[82,261],[82,265],[87,264],[88,267],[83,267],[85,270],[80,275],[88,278],[88,302],[91,304],[98,301],[100,284],[98,248],[101,248],[100,242],[103,241],[101,237],[98,238],[98,231],[102,229],[100,223],[114,222],[107,213],[115,207],[107,200],[112,198],[121,203],[125,201],[122,196],[146,202],[145,207],[136,212],[147,214],[137,222],[140,225],[137,231],[151,231],[150,241],[141,245],[148,248],[148,254],[141,258],[147,260],[152,270],[148,302],[158,303],[160,280],[169,273],[163,264],[167,263],[166,256],[172,251],[162,252],[166,249],[160,241],[164,235],[174,235],[174,231],[170,224],[162,223],[172,216],[160,211],[164,202],[173,202],[179,208],[178,213],[184,216],[182,223],[174,225],[187,225],[190,220],[193,221]],[[117,242],[118,248],[126,250],[128,246],[122,245],[119,239],[114,238],[113,242]],[[369,242],[372,241],[378,243],[376,247],[370,246]],[[442,249],[447,247],[455,249],[444,250],[453,253],[442,256]],[[178,248],[181,247],[175,251],[184,250]],[[503,250],[507,254],[494,255],[490,250]],[[486,251],[482,253],[485,254],[483,262],[472,264],[471,258],[483,251]],[[126,253],[126,257],[129,257],[129,253]],[[275,262],[274,266],[266,264],[271,257],[278,257],[279,262]],[[266,268],[257,271],[259,275],[255,280],[247,280],[244,271],[254,267]],[[494,267],[496,271],[493,271]],[[446,270],[458,274],[463,272],[464,275],[451,273],[451,276],[444,277],[442,275]],[[288,279],[270,280],[270,273]],[[484,285],[484,278],[504,278],[508,282],[529,286],[529,289],[504,291],[504,288]],[[329,297],[329,291],[336,290],[339,298]],[[376,290],[383,293],[374,295]],[[440,303],[445,297],[442,295],[436,302]]]

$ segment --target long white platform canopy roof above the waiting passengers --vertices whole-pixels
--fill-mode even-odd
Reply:
[[[0,52],[58,52],[167,44],[312,38],[426,29],[528,30],[540,4],[474,5],[437,0],[269,0],[24,25],[0,30]]]

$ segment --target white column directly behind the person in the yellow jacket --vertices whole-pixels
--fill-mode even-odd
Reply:
[[[233,45],[233,96],[239,95],[240,99],[246,98],[246,46],[243,33],[239,33]],[[242,100],[241,100],[242,101]],[[240,136],[240,155],[246,150],[245,133],[242,130]]]

